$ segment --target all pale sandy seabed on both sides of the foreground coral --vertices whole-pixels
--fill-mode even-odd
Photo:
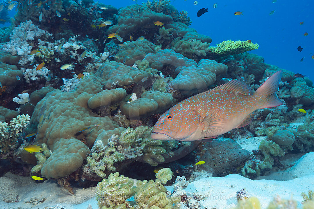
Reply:
[[[309,190],[314,191],[313,162],[314,153],[307,153],[297,160],[294,166],[286,171],[280,171],[282,174],[274,173],[275,176],[281,176],[279,179],[286,181],[251,180],[238,174],[230,174],[225,177],[210,177],[194,181],[184,190],[190,196],[205,197],[199,202],[201,208],[233,207],[237,202],[236,192],[243,188],[251,196],[256,196],[263,208],[266,208],[276,195],[282,199],[292,197],[298,201],[300,207],[300,202],[303,201],[300,194],[307,193]],[[271,175],[266,177],[273,179]],[[169,191],[173,190],[173,186],[166,186],[166,188]],[[98,208],[95,199],[96,187],[74,188],[73,192],[74,195],[70,194],[53,180],[37,183],[30,177],[6,173],[0,178],[0,209],[44,209],[53,208],[57,204],[66,209]]]

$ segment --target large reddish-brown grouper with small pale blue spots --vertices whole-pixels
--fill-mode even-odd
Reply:
[[[254,93],[245,83],[233,80],[189,97],[162,114],[152,139],[208,140],[252,122],[254,111],[282,104],[276,96],[282,71],[270,76]]]

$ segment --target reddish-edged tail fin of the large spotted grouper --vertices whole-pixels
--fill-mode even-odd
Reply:
[[[277,107],[283,104],[276,96],[281,76],[282,71],[275,72],[254,92],[253,96],[257,97],[258,108]]]

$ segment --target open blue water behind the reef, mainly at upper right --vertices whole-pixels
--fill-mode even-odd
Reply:
[[[133,0],[104,1],[116,8],[134,4]],[[141,4],[143,0],[137,1]],[[217,3],[217,8],[213,8]],[[259,1],[206,1],[172,0],[171,4],[178,11],[186,10],[192,19],[189,26],[200,34],[212,38],[211,46],[225,40],[248,40],[259,45],[259,49],[250,53],[263,56],[265,63],[277,65],[286,70],[301,73],[314,80],[314,1],[272,0]],[[201,8],[208,8],[208,13],[197,17]],[[269,15],[273,10],[275,13]],[[243,11],[243,15],[234,15]],[[300,22],[304,22],[300,25]],[[304,36],[308,33],[307,36]],[[303,50],[299,52],[298,46]],[[301,58],[304,57],[303,62]]]

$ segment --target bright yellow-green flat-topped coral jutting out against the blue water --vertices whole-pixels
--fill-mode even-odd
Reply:
[[[249,43],[247,41],[223,41],[216,46],[209,47],[208,55],[210,57],[219,58],[227,55],[234,55],[258,49],[258,44]]]

